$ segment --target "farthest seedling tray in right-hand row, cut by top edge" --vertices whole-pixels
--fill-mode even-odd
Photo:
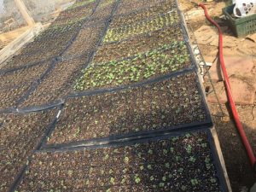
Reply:
[[[115,15],[129,15],[136,10],[154,7],[166,1],[173,2],[173,0],[123,0]]]

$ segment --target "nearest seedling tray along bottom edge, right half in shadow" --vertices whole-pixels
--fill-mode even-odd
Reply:
[[[35,154],[18,191],[226,191],[205,131]]]

